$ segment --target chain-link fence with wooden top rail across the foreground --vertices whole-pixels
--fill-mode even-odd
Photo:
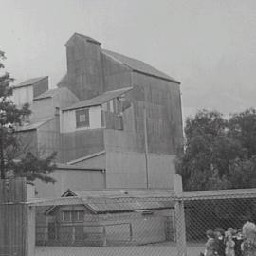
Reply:
[[[241,256],[256,222],[255,190],[68,200],[37,207],[37,256]]]

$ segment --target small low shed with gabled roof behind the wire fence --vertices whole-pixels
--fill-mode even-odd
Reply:
[[[37,242],[108,246],[174,240],[174,201],[170,194],[167,190],[68,190],[63,197],[77,196],[82,203],[47,209],[47,227],[41,231],[38,227]]]

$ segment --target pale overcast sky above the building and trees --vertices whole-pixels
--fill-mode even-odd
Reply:
[[[0,50],[22,82],[66,70],[79,32],[181,82],[184,116],[256,107],[255,0],[0,0]]]

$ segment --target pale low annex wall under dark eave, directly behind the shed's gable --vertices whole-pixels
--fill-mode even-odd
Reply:
[[[105,178],[101,171],[56,170],[50,175],[56,180],[54,184],[35,181],[36,197],[60,197],[67,189],[85,191],[105,188]]]

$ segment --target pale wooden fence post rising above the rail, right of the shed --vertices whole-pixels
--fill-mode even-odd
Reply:
[[[180,175],[174,174],[174,192],[175,192],[175,228],[176,228],[176,247],[178,256],[187,256],[186,245],[186,226],[185,226],[185,210],[182,200],[182,179]]]

